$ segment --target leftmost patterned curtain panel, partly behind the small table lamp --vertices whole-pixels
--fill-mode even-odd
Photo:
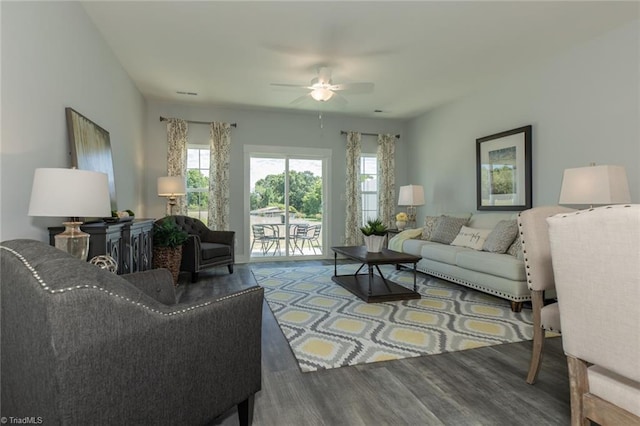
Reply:
[[[183,176],[187,174],[187,122],[179,118],[167,120],[167,176]],[[186,186],[186,185],[185,185]],[[177,197],[173,214],[187,214],[186,196]],[[167,215],[171,207],[167,203]]]

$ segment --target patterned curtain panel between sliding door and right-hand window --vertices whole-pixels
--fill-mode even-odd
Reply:
[[[362,135],[359,132],[347,132],[347,187],[345,197],[347,211],[345,218],[345,245],[363,244],[362,197],[360,188],[360,154]]]

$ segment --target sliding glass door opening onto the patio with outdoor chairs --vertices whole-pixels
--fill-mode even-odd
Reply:
[[[324,255],[326,161],[313,155],[250,153],[251,259]]]

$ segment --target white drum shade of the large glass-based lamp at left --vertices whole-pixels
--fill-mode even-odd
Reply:
[[[78,169],[36,169],[29,216],[111,216],[105,173]]]

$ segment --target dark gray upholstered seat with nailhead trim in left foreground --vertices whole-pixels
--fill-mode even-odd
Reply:
[[[176,303],[171,274],[117,276],[47,244],[0,244],[0,415],[205,424],[261,387],[263,290]]]

